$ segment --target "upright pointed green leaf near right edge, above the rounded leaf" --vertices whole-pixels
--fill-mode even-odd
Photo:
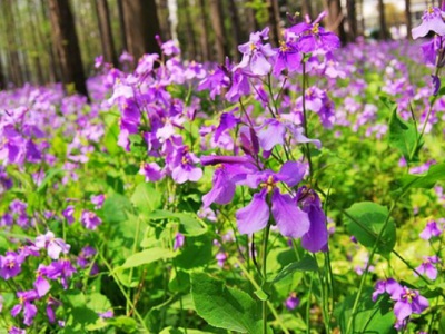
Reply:
[[[413,150],[417,154],[418,149],[423,145],[422,143],[416,143],[418,136],[417,129],[414,122],[407,122],[397,115],[397,105],[394,101],[385,97],[380,97],[380,99],[390,111],[388,135],[389,146],[398,149],[405,159],[409,161],[409,156]],[[416,145],[417,147],[415,147]],[[417,160],[416,154],[413,160]]]

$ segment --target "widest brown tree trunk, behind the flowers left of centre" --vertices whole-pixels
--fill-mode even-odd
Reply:
[[[155,38],[160,26],[155,0],[122,0],[128,52],[135,59],[144,53],[160,53]]]

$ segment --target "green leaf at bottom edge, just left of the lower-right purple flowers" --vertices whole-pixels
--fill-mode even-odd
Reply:
[[[373,291],[367,288],[363,292],[358,301],[357,313],[353,322],[352,333],[368,334],[393,334],[397,333],[394,328],[395,315],[392,312],[392,303],[388,297],[380,297],[376,303],[370,298]],[[342,333],[346,333],[352,311],[355,302],[355,294],[345,298],[336,307],[335,316],[338,318]]]

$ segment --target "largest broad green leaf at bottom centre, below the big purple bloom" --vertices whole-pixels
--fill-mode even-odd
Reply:
[[[191,274],[191,297],[196,312],[209,325],[240,333],[260,333],[257,303],[245,292],[227,287],[204,273]]]

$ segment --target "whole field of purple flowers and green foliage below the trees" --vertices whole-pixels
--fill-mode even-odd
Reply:
[[[445,333],[442,16],[0,91],[0,328]]]

